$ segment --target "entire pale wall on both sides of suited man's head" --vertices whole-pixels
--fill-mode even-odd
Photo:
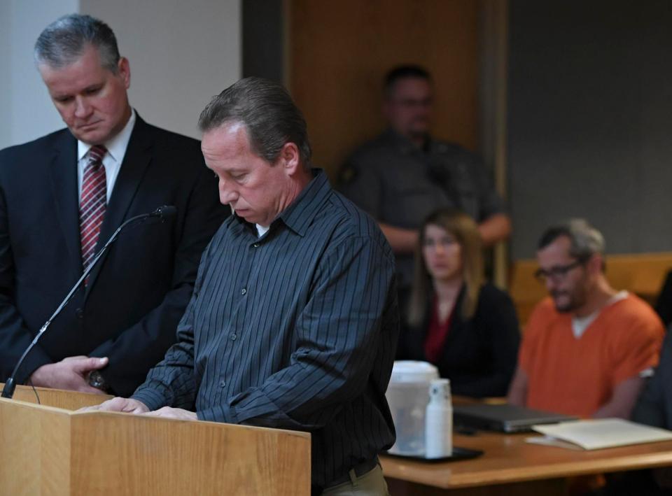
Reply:
[[[131,104],[160,127],[199,136],[202,108],[241,75],[240,0],[0,0],[0,148],[63,127],[32,50],[47,24],[78,11],[115,31]]]

